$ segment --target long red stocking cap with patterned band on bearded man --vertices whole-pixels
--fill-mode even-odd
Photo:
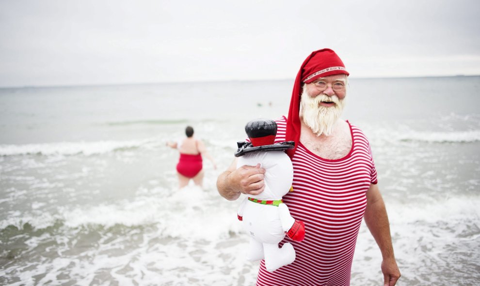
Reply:
[[[345,65],[331,49],[321,49],[310,54],[300,67],[293,86],[292,99],[288,110],[286,141],[295,141],[295,148],[287,150],[288,156],[293,158],[300,141],[300,96],[302,84],[311,83],[319,77],[328,75],[349,75]]]

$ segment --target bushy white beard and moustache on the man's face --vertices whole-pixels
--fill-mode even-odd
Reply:
[[[333,106],[323,106],[320,102],[334,102]],[[311,97],[304,88],[300,102],[300,117],[317,136],[332,135],[336,122],[342,114],[345,99],[340,100],[336,95],[328,96],[323,93]]]

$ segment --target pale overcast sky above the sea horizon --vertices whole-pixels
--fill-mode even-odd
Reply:
[[[478,0],[0,0],[0,87],[480,75]]]

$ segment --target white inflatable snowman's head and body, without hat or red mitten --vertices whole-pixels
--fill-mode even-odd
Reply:
[[[256,166],[258,163],[266,170],[265,190],[259,195],[250,196],[257,202],[245,198],[238,214],[242,218],[247,234],[250,235],[247,258],[251,261],[265,259],[266,269],[275,271],[295,260],[295,250],[290,243],[287,242],[282,248],[278,248],[278,243],[285,237],[285,232],[295,222],[287,205],[279,202],[292,185],[293,166],[284,151],[258,151],[240,157],[237,168],[243,165]]]

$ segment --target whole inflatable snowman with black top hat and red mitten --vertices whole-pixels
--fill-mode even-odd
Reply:
[[[240,205],[238,218],[242,221],[250,245],[247,259],[265,259],[267,271],[275,271],[295,260],[295,250],[287,242],[278,243],[287,235],[293,241],[303,241],[304,223],[291,217],[282,196],[291,190],[293,166],[286,149],[294,147],[293,141],[274,144],[277,124],[273,120],[253,120],[245,125],[251,142],[238,142],[235,152],[240,157],[237,168],[243,165],[265,168],[265,189],[256,196],[246,197]]]

